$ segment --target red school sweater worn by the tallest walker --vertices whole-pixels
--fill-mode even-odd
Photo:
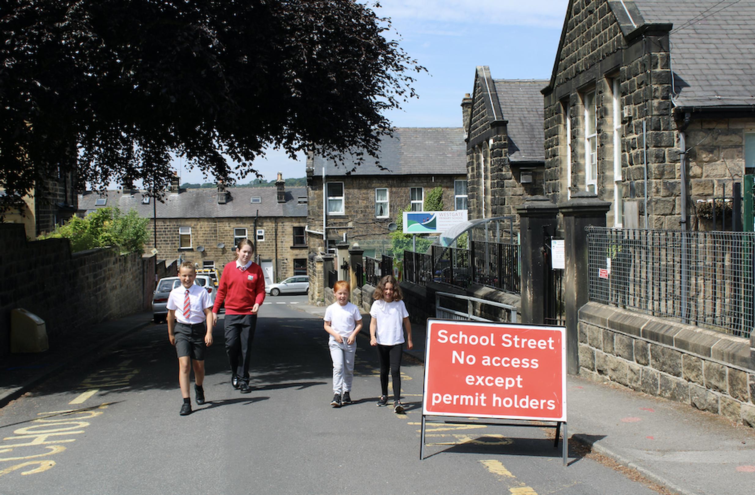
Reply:
[[[220,311],[225,301],[227,315],[251,315],[254,303],[265,300],[265,278],[257,263],[251,263],[243,272],[236,267],[236,261],[228,263],[220,275],[215,305],[212,312]]]

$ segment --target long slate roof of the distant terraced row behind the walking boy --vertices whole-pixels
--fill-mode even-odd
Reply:
[[[180,193],[165,192],[164,202],[157,202],[158,218],[230,218],[254,217],[259,211],[260,217],[307,217],[307,203],[299,204],[298,198],[307,197],[307,189],[293,187],[285,190],[285,203],[278,202],[276,187],[229,187],[226,204],[217,204],[217,189],[182,189]],[[134,209],[140,217],[153,217],[153,199],[143,204],[143,191],[123,194],[122,191],[106,191],[107,201],[102,206],[95,202],[100,195],[97,192],[85,192],[79,195],[79,210],[86,213],[97,208],[118,207],[124,213]],[[252,203],[252,196],[259,197],[259,203]]]

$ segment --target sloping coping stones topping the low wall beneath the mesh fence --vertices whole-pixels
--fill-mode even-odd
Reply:
[[[595,302],[579,309],[579,320],[637,340],[683,351],[706,361],[755,373],[750,340],[744,337]],[[638,329],[633,324],[641,326]]]

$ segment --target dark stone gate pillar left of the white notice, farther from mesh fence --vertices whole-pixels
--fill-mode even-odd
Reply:
[[[543,249],[545,238],[556,232],[556,204],[545,196],[532,196],[516,208],[522,237],[522,323],[545,323],[545,287]]]

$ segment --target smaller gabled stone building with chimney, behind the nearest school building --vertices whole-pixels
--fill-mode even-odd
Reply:
[[[488,66],[477,67],[472,96],[461,103],[470,219],[516,218],[519,204],[543,194],[541,89],[547,82],[493,79]]]

